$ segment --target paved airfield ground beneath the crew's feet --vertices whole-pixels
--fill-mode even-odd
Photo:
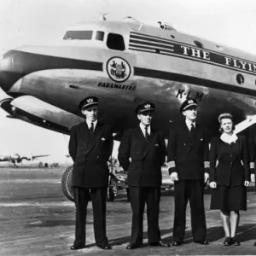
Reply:
[[[61,169],[0,168],[0,255],[256,255],[256,195],[248,192],[247,212],[241,212],[238,240],[241,247],[224,247],[224,231],[219,212],[209,211],[210,195],[205,195],[207,238],[210,245],[195,244],[191,238],[189,212],[185,242],[181,247],[159,248],[147,245],[147,219],[144,218],[144,247],[126,250],[131,234],[131,207],[125,190],[116,201],[108,202],[107,232],[111,251],[96,247],[89,204],[87,247],[73,253],[75,208],[61,191]],[[160,201],[160,231],[164,241],[172,241],[174,202],[172,192]]]

